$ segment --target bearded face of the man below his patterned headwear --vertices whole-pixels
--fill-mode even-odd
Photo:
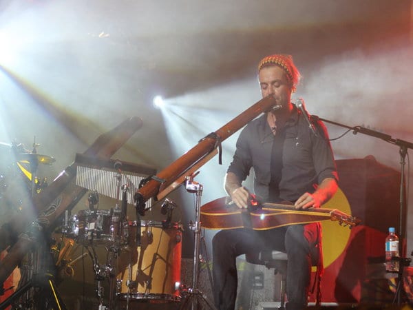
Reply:
[[[277,65],[264,67],[258,73],[262,97],[273,95],[277,105],[288,107],[291,96],[291,85],[286,79],[286,74]]]

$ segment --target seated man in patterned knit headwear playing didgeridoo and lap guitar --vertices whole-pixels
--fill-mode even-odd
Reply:
[[[273,95],[280,107],[248,123],[237,140],[224,186],[239,208],[246,208],[251,198],[251,192],[242,186],[251,167],[255,194],[267,202],[288,200],[296,209],[308,209],[320,207],[337,191],[337,170],[326,127],[317,121],[317,132],[312,132],[305,116],[290,102],[299,77],[289,55],[266,56],[258,65],[262,96]],[[276,249],[288,256],[287,309],[306,307],[310,254],[319,243],[318,230],[319,223],[310,223],[264,231],[219,231],[213,238],[215,306],[235,307],[237,256]]]

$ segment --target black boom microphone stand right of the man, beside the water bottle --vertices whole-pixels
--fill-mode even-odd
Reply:
[[[383,134],[381,132],[377,132],[375,130],[370,130],[365,127],[361,126],[354,126],[350,127],[348,125],[343,125],[341,123],[333,122],[325,118],[321,118],[316,115],[310,116],[310,118],[313,118],[314,121],[323,121],[325,123],[330,123],[332,125],[337,125],[340,127],[345,127],[348,128],[349,130],[353,131],[353,134],[366,134],[368,136],[373,136],[375,138],[380,138],[383,141],[386,141],[388,143],[394,144],[399,146],[399,154],[400,154],[400,165],[401,165],[401,173],[400,173],[400,196],[399,196],[399,234],[400,234],[400,244],[402,245],[401,247],[401,258],[399,258],[399,272],[397,276],[397,289],[396,289],[396,296],[395,300],[397,300],[397,304],[401,304],[401,286],[403,283],[403,269],[404,267],[407,267],[410,265],[410,259],[405,258],[405,247],[403,246],[405,243],[406,238],[406,227],[405,227],[405,221],[403,221],[403,214],[406,214],[407,211],[407,205],[406,205],[406,194],[405,194],[405,156],[407,155],[407,149],[413,149],[413,143],[410,143],[408,141],[404,141],[401,139],[397,138],[392,138],[392,136],[388,134]]]

